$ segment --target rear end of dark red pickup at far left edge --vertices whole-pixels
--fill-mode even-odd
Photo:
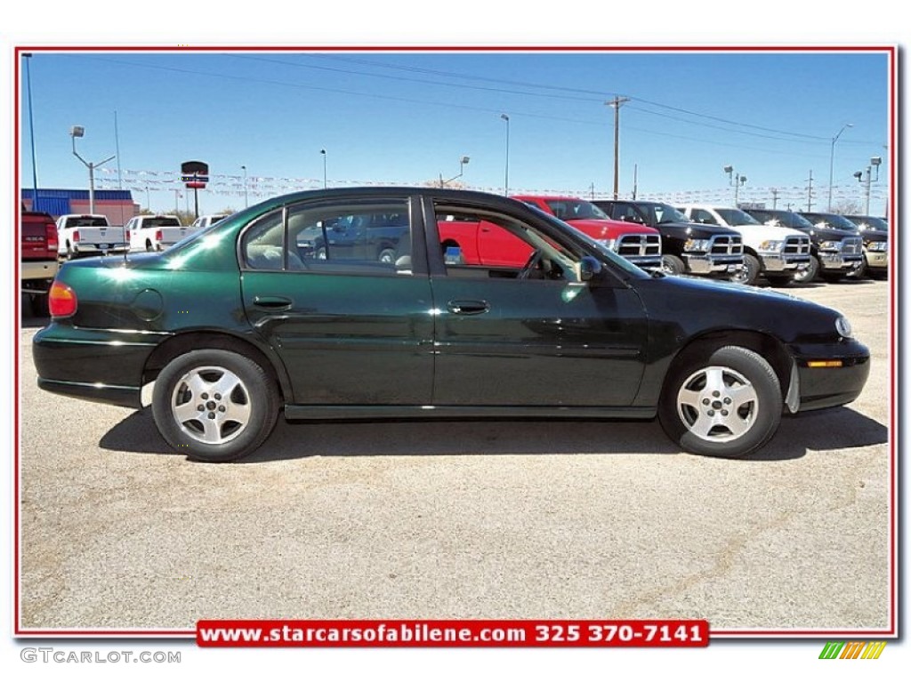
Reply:
[[[19,234],[22,244],[20,289],[30,297],[32,313],[46,316],[47,292],[59,268],[54,218],[41,211],[23,210],[19,215]]]

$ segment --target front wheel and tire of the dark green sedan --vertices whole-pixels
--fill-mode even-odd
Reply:
[[[688,354],[664,382],[661,427],[690,453],[737,458],[761,448],[781,423],[781,383],[758,353],[740,346]]]

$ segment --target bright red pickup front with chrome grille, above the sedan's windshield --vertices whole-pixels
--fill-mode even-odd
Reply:
[[[640,268],[661,267],[661,233],[654,228],[610,219],[590,201],[576,197],[515,195],[513,199],[566,221]]]

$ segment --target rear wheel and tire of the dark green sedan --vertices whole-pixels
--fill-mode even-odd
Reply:
[[[219,349],[178,356],[160,372],[152,392],[152,415],[165,441],[209,463],[251,454],[271,433],[278,413],[278,389],[269,373]]]

